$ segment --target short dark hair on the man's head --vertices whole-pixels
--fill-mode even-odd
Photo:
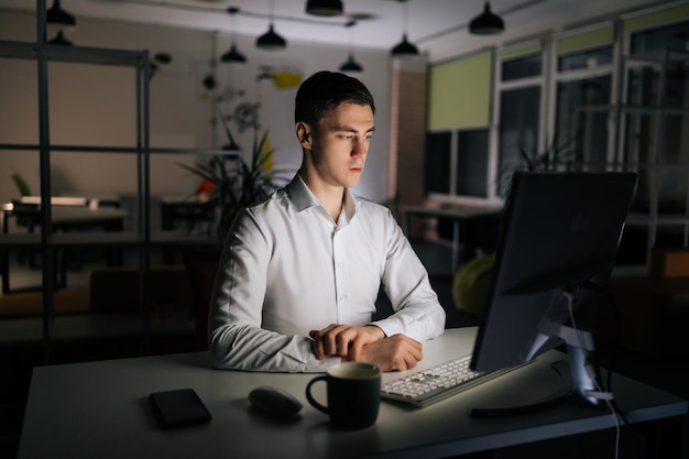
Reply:
[[[306,78],[297,90],[294,122],[304,121],[316,127],[342,102],[370,106],[375,113],[373,96],[363,83],[336,72],[317,72]]]

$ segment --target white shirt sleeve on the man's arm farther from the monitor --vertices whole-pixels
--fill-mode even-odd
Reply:
[[[219,369],[321,372],[339,358],[317,360],[305,336],[261,328],[272,242],[249,211],[226,238],[208,317],[209,349]]]

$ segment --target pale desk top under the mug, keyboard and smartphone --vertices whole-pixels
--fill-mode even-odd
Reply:
[[[446,330],[425,345],[423,365],[466,353],[474,334],[474,328]],[[507,378],[426,408],[383,402],[376,424],[354,431],[331,429],[326,416],[308,405],[304,390],[314,374],[214,370],[207,352],[36,368],[19,458],[430,458],[613,427],[609,412],[571,402],[512,417],[467,415],[471,406],[548,384],[549,361],[561,357],[551,351]],[[304,403],[296,420],[278,420],[250,409],[247,394],[266,384],[281,386]],[[687,413],[687,401],[675,395],[622,376],[614,379],[614,385],[630,422]],[[214,419],[203,426],[161,430],[146,397],[181,387],[195,389]],[[325,391],[316,397],[324,400]]]

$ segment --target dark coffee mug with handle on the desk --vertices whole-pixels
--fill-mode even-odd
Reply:
[[[311,386],[318,381],[327,384],[327,406],[311,395]],[[306,398],[315,408],[329,415],[336,427],[358,429],[372,426],[381,405],[381,371],[369,363],[340,363],[308,382]]]

